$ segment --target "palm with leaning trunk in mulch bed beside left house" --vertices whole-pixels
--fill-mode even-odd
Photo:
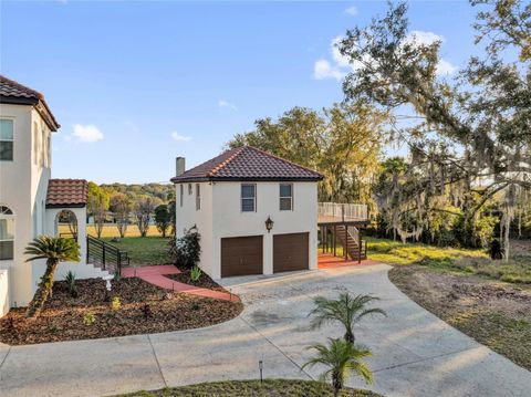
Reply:
[[[73,239],[40,236],[28,244],[24,253],[32,255],[27,262],[38,259],[46,260],[46,270],[25,312],[27,317],[35,317],[44,306],[48,296],[52,294],[53,274],[58,269],[59,262],[79,262],[80,247]]]

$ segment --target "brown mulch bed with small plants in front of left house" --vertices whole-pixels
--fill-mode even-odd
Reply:
[[[240,302],[170,293],[137,278],[113,281],[107,299],[102,279],[75,284],[79,295],[72,297],[65,282],[55,282],[53,297],[35,320],[25,318],[25,307],[12,309],[0,318],[0,342],[25,345],[189,330],[222,323],[243,310]],[[119,309],[112,307],[114,296],[119,296]],[[91,325],[84,322],[87,314],[95,318]]]

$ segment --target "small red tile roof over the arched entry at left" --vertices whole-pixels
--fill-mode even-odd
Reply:
[[[85,179],[50,179],[46,208],[80,208],[86,206],[88,184]]]

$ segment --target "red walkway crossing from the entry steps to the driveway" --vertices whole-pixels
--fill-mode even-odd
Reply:
[[[160,286],[166,290],[171,290],[175,292],[184,292],[191,295],[214,297],[222,301],[238,302],[240,299],[238,295],[230,294],[222,291],[214,291],[209,289],[204,289],[200,286],[195,286],[190,284],[185,284],[175,280],[171,280],[166,276],[166,274],[179,274],[180,270],[171,264],[156,265],[156,267],[142,267],[133,268],[127,267],[122,269],[123,278],[139,278],[150,284]]]

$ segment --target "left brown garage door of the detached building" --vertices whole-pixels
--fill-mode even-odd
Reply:
[[[221,239],[221,276],[262,274],[262,237]]]

